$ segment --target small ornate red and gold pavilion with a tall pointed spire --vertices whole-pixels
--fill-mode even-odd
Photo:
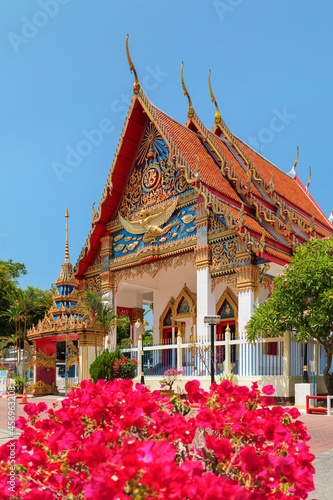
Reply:
[[[49,394],[56,392],[56,354],[58,342],[66,342],[66,370],[78,365],[78,379],[89,378],[89,366],[103,348],[102,335],[92,328],[89,317],[84,315],[78,281],[69,259],[68,209],[66,207],[66,248],[65,262],[56,280],[53,304],[44,318],[28,331],[26,343],[26,369],[34,367],[33,384],[29,392]],[[77,342],[75,342],[77,341]],[[77,344],[77,347],[74,345]]]

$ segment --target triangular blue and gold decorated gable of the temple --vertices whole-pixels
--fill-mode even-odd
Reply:
[[[195,232],[196,196],[152,123],[146,127],[115,221],[113,258],[177,246]]]

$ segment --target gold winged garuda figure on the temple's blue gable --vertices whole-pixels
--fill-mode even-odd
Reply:
[[[144,243],[150,243],[166,234],[170,231],[172,226],[178,223],[178,221],[174,221],[164,228],[160,227],[170,219],[175,211],[177,203],[178,196],[172,198],[168,203],[164,203],[156,208],[143,208],[138,215],[129,220],[119,214],[119,220],[127,232],[130,234],[143,234],[142,241]]]

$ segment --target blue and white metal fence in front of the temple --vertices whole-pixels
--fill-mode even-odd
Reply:
[[[215,374],[221,376],[226,372],[229,365],[230,373],[236,376],[282,376],[284,374],[284,340],[259,339],[256,344],[249,344],[246,339],[227,341],[216,341],[214,360]],[[125,356],[135,358],[141,363],[141,351],[138,346],[122,348]],[[143,364],[146,376],[161,377],[170,368],[183,370],[185,376],[207,377],[210,375],[211,350],[207,341],[196,341],[195,344],[163,343],[143,346]],[[310,360],[315,358],[315,341],[308,341],[307,364],[310,368]],[[229,353],[229,354],[228,354]],[[303,374],[304,344],[296,342],[294,337],[290,339],[290,376],[301,376]],[[226,356],[229,355],[229,362]],[[177,357],[180,356],[179,362]],[[319,346],[319,375],[323,374],[326,365],[325,351]],[[333,369],[333,362],[332,367]],[[309,372],[310,374],[310,372]],[[285,374],[287,375],[287,374]]]

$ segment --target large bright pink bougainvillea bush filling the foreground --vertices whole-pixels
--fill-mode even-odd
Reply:
[[[200,406],[187,419],[159,391],[120,379],[83,381],[45,419],[45,403],[26,405],[14,464],[0,448],[0,498],[307,498],[314,456],[298,410],[270,409],[256,384],[224,380],[207,393],[194,380],[186,390]]]

